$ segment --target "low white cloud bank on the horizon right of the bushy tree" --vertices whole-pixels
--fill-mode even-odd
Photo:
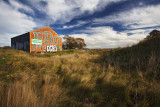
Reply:
[[[132,31],[135,34],[128,35],[130,31],[117,32],[111,27],[90,27],[83,31],[84,34],[72,34],[72,37],[83,38],[87,48],[115,48],[130,46],[144,39],[148,33],[144,31]]]

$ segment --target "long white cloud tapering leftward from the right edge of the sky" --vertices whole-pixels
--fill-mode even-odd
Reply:
[[[119,22],[129,29],[138,29],[144,27],[154,27],[160,25],[160,5],[138,7],[132,10],[115,13],[103,18],[94,19],[96,23]]]

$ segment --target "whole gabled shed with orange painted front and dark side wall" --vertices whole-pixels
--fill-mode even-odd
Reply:
[[[28,52],[62,51],[62,38],[49,26],[11,38],[11,48]]]

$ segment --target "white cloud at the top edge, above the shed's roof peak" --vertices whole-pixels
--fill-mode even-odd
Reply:
[[[97,4],[98,0],[48,0],[46,12],[55,22],[65,23],[85,11],[92,12]]]

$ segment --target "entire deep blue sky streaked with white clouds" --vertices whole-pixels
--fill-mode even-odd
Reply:
[[[45,26],[90,49],[131,46],[160,30],[160,0],[0,0],[0,46]]]

